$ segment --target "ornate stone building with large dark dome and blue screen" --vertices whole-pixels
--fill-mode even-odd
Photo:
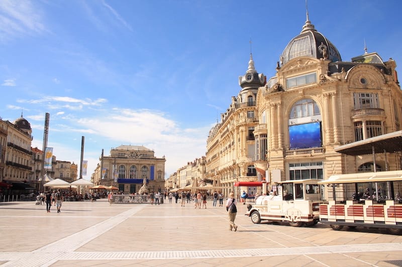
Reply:
[[[273,181],[400,169],[400,154],[381,151],[373,166],[372,155],[347,156],[334,150],[400,130],[402,91],[395,67],[392,59],[383,62],[366,49],[342,61],[307,16],[302,32],[280,56],[275,76],[257,94],[259,167]]]

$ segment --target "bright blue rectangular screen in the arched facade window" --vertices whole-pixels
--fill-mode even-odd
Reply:
[[[321,147],[321,122],[289,126],[290,149]]]

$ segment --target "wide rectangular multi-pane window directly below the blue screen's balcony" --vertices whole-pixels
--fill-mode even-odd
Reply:
[[[305,180],[324,178],[323,162],[289,163],[290,180]]]

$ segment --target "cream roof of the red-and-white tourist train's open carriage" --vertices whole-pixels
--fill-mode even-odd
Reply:
[[[366,183],[366,182],[386,182],[386,181],[402,181],[402,170],[359,172],[359,173],[331,175],[328,178],[328,180],[320,181],[318,183],[333,184],[333,183]]]

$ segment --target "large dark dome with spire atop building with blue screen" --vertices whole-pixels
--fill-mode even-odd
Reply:
[[[316,59],[329,59],[332,62],[342,61],[336,47],[325,36],[314,28],[307,14],[306,24],[302,32],[294,37],[280,56],[280,63],[283,66],[288,61],[297,57],[313,57]]]

